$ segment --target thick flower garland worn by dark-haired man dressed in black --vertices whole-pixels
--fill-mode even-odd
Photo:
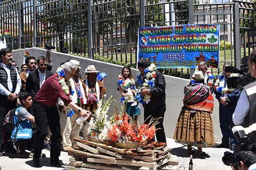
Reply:
[[[144,69],[144,75],[137,76],[138,80],[135,84],[135,96],[138,102],[145,103],[152,96],[152,94],[146,94],[142,96],[140,93],[143,89],[150,89],[155,87],[155,78],[157,77],[156,69],[157,67],[155,64],[151,63],[149,67]]]

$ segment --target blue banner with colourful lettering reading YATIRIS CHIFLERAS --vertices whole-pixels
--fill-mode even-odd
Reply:
[[[201,61],[218,68],[218,24],[146,27],[138,35],[138,60],[147,58],[157,68],[196,68]]]

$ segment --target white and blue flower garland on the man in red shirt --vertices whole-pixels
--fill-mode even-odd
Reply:
[[[60,84],[62,90],[64,91],[64,93],[69,98],[71,98],[71,96],[73,96],[73,94],[74,94],[74,91],[73,91],[73,89],[71,87],[70,80],[68,80],[67,82],[65,81],[65,73],[64,73],[64,70],[61,67],[59,67],[57,69],[57,74],[59,76],[59,84]],[[74,110],[72,110],[70,107],[67,106],[66,107],[66,115],[68,117],[71,117],[74,114],[75,114]]]

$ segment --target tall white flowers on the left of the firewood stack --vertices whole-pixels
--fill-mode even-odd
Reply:
[[[91,131],[99,131],[101,132],[102,139],[108,138],[108,129],[110,127],[111,121],[108,121],[108,110],[111,102],[116,100],[111,100],[112,96],[108,99],[108,101],[104,100],[104,104],[102,104],[103,100],[98,102],[98,109],[94,111],[94,117],[89,122],[88,132],[87,134],[90,135]],[[107,126],[107,127],[106,127]],[[101,139],[100,139],[101,140]]]

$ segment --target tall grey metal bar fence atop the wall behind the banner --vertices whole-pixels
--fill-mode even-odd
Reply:
[[[0,0],[0,15],[0,32],[10,32],[12,49],[48,43],[60,52],[130,65],[137,62],[140,27],[219,23],[220,66],[244,67],[256,47],[256,4],[240,0]]]

